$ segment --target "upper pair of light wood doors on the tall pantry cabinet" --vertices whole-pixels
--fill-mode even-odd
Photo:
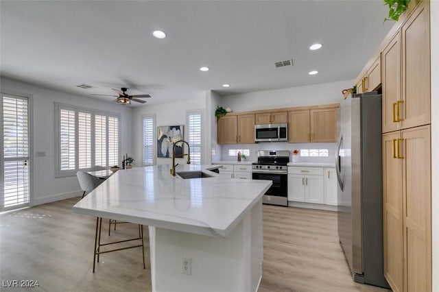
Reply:
[[[383,50],[383,133],[430,123],[429,39],[423,1]]]

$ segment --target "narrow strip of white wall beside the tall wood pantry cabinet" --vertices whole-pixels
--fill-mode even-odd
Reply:
[[[433,291],[439,291],[439,1],[430,2],[431,35],[431,211]],[[436,151],[435,151],[436,150]]]

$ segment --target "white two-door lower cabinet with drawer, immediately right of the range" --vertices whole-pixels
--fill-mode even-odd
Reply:
[[[324,204],[323,169],[288,167],[288,201]]]

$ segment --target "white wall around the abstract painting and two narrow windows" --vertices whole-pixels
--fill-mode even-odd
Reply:
[[[162,125],[185,125],[185,138],[187,136],[186,112],[187,110],[203,110],[204,117],[206,117],[206,96],[205,93],[200,93],[194,99],[189,101],[173,102],[169,104],[154,104],[134,108],[132,113],[132,143],[134,150],[134,159],[139,161],[137,165],[141,165],[143,160],[143,145],[142,145],[142,115],[156,114],[156,127]],[[206,119],[204,119],[203,127],[206,128]],[[210,131],[204,131],[202,141],[210,139]],[[204,145],[206,147],[206,145]],[[154,147],[154,155],[157,149]],[[204,152],[204,151],[203,151]],[[178,163],[185,163],[186,158],[176,159]],[[205,162],[203,162],[205,163]],[[171,164],[171,158],[157,158],[156,165]]]

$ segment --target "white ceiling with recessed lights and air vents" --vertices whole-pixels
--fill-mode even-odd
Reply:
[[[89,98],[128,87],[152,95],[146,106],[351,80],[393,25],[379,0],[1,0],[0,12],[1,75]]]

